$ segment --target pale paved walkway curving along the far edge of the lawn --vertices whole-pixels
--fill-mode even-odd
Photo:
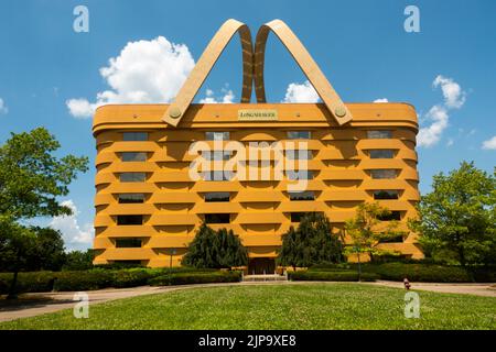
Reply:
[[[111,288],[87,292],[89,304],[100,304],[115,299],[137,297],[151,294],[160,294],[192,287],[218,287],[218,286],[240,286],[240,285],[309,285],[322,284],[322,282],[254,282],[236,284],[206,284],[206,285],[184,285],[173,287],[151,287],[141,286],[132,288]],[[327,283],[330,285],[334,283]],[[387,287],[403,288],[402,283],[376,282],[364,283],[364,285],[378,285]],[[412,283],[412,290],[430,290],[435,293],[465,294],[486,297],[496,297],[494,284],[427,284]],[[73,300],[75,293],[40,293],[24,294],[18,301],[0,300],[0,322],[19,318],[34,317],[48,312],[54,312],[67,308],[74,308],[76,301]]]

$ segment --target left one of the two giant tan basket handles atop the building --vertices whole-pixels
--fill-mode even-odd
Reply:
[[[212,67],[219,58],[235,33],[239,33],[242,46],[242,91],[241,102],[250,102],[254,79],[254,48],[248,26],[236,20],[227,20],[214,35],[203,52],[175,100],[169,106],[162,120],[176,127],[195,98]]]

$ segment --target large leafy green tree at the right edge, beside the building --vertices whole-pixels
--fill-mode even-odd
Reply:
[[[461,163],[449,175],[434,175],[432,191],[419,204],[419,219],[410,222],[428,255],[462,266],[495,263],[495,175],[473,162]]]

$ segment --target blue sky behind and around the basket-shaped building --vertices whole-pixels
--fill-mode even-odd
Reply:
[[[80,4],[89,10],[88,33],[73,30],[73,10]],[[408,4],[420,10],[420,33],[403,29]],[[495,166],[496,140],[483,147],[496,135],[495,14],[496,2],[492,0],[4,0],[0,3],[0,141],[9,132],[44,125],[62,143],[61,154],[88,155],[93,163],[96,152],[91,119],[82,117],[80,111],[75,117],[77,111],[71,110],[67,101],[87,101],[86,106],[76,106],[84,110],[91,108],[98,92],[117,91],[117,98],[111,99],[128,97],[126,92],[140,84],[118,81],[116,88],[108,81],[109,77],[137,79],[126,75],[126,67],[109,64],[109,58],[121,56],[128,43],[147,41],[142,47],[131,46],[138,52],[145,45],[159,47],[161,44],[153,42],[159,36],[165,38],[162,44],[183,44],[180,56],[186,69],[187,59],[200,57],[228,18],[247,23],[252,32],[267,21],[281,19],[299,35],[344,101],[386,98],[416,106],[421,127],[436,131],[430,145],[418,147],[420,188],[425,193],[432,175],[453,169],[463,160],[475,161],[488,172]],[[303,85],[305,77],[279,42],[271,37],[268,45],[268,100],[281,101],[288,86]],[[173,90],[181,75],[168,76],[168,67],[163,67],[166,61],[149,59],[150,67],[159,65],[171,82],[159,86],[163,91],[151,91],[149,99],[172,97],[174,91],[165,90]],[[129,64],[129,57],[122,62]],[[240,62],[235,40],[197,100],[207,96],[229,100],[230,94],[238,99]],[[104,77],[101,67],[125,73]],[[77,217],[56,222],[68,232],[68,248],[87,246],[74,239],[90,231],[94,176],[91,168],[72,184],[71,194],[64,197],[77,208]]]

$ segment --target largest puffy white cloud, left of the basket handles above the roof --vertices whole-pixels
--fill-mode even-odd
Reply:
[[[100,75],[110,89],[100,91],[96,101],[69,99],[72,116],[90,118],[106,103],[169,102],[193,69],[195,61],[184,44],[159,36],[151,41],[129,42],[119,56],[111,57]]]

